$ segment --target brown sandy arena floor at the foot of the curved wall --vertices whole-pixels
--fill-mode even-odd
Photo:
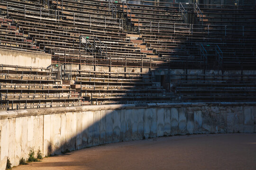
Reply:
[[[256,134],[172,136],[104,144],[14,170],[256,170]]]

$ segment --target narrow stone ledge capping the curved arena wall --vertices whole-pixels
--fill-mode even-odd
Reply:
[[[175,108],[175,107],[201,107],[201,106],[256,106],[256,102],[173,102],[173,103],[145,103],[145,104],[109,104],[74,107],[54,107],[26,110],[0,111],[0,119],[19,118],[26,116],[61,114],[64,112],[97,111],[97,110],[123,110],[145,108]]]

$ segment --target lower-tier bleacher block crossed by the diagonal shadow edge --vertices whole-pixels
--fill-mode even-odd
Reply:
[[[171,93],[158,82],[152,81],[150,74],[127,72],[102,72],[73,70],[76,84],[83,96],[92,103],[140,103],[167,102],[174,99]]]

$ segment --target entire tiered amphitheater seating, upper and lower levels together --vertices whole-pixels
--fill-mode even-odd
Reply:
[[[255,8],[198,5],[202,14],[197,15],[192,5],[183,4],[197,22],[187,24],[178,3],[118,1],[111,11],[111,3],[102,0],[39,2],[0,1],[1,49],[50,53],[53,64],[92,65],[94,70],[96,66],[130,67],[141,72],[72,69],[74,85],[63,85],[49,69],[2,66],[1,109],[89,102],[255,100],[254,75],[173,75],[180,78],[172,79],[174,89],[168,91],[151,72],[158,68],[255,70]],[[88,42],[87,50],[81,42]],[[92,52],[90,44],[101,48]],[[142,74],[143,68],[149,73]]]

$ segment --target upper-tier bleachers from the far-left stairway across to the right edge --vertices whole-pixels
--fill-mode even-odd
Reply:
[[[53,9],[38,5],[33,1],[6,0],[6,2],[8,2],[8,15],[18,24],[20,31],[29,37],[27,39],[38,44],[41,50],[51,53],[55,62],[112,65],[113,61],[122,65],[126,58],[128,64],[137,67],[140,67],[143,59],[152,63],[144,67],[157,67],[159,64],[165,64],[165,67],[168,65],[172,68],[201,68],[205,64],[200,53],[201,44],[210,44],[214,48],[218,44],[223,51],[223,63],[221,64],[224,64],[226,68],[234,69],[241,63],[252,68],[255,64],[254,26],[248,30],[248,25],[245,27],[243,24],[246,23],[243,22],[237,22],[239,26],[241,25],[239,28],[237,26],[213,26],[212,22],[205,23],[206,25],[203,26],[183,24],[177,4],[155,6],[131,4],[128,1],[128,9],[127,5],[115,3],[118,12],[124,15],[126,11],[131,12],[122,18],[124,21],[121,22],[120,19],[112,18],[108,1],[63,0],[59,2],[59,5],[56,1],[51,1]],[[3,12],[7,12],[6,3],[1,3],[1,8]],[[207,11],[205,8],[202,10]],[[236,13],[235,17],[242,14],[239,18],[248,17],[247,22],[250,23],[253,23],[251,19],[255,14],[255,9],[250,9],[247,12],[248,15],[240,9],[214,8],[214,11],[222,18],[230,11],[230,16],[233,13]],[[222,18],[219,17],[219,20]],[[39,23],[38,19],[40,19]],[[137,32],[123,28],[126,23],[125,19],[130,20],[133,27],[139,29],[139,35]],[[232,25],[233,17],[225,17],[225,19],[230,20],[230,22],[225,20],[227,25]],[[239,32],[239,34],[234,36],[233,32],[234,34]],[[226,37],[223,37],[223,34],[226,34]],[[81,52],[80,35],[88,36],[89,42],[93,42],[94,37],[99,38],[107,47],[106,60],[102,60],[102,55],[99,53]],[[238,47],[241,45],[246,52],[239,50]],[[106,50],[105,47],[102,49]],[[210,49],[210,51],[215,50]],[[234,58],[234,55],[237,57]],[[92,58],[96,58],[97,61],[93,63]],[[110,58],[112,61],[109,61]],[[170,60],[171,63],[168,63]],[[215,56],[209,55],[205,67],[215,67],[218,65],[216,62],[218,61]]]

